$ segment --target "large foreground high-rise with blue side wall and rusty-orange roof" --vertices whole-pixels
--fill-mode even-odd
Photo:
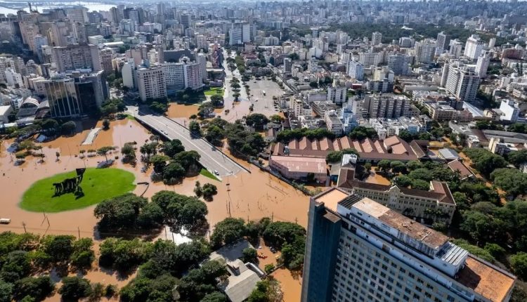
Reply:
[[[516,277],[367,197],[311,197],[301,302],[509,301]]]

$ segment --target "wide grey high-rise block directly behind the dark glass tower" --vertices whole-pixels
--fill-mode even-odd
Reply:
[[[58,72],[73,70],[101,70],[99,50],[97,46],[88,44],[72,44],[68,46],[53,47],[53,63]]]

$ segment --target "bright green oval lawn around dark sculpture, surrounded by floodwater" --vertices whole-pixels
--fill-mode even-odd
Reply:
[[[103,199],[122,195],[136,188],[133,173],[121,169],[86,169],[80,187],[84,195],[77,197],[74,193],[55,195],[53,183],[60,183],[66,178],[73,178],[75,171],[60,173],[49,178],[38,180],[22,196],[20,208],[34,212],[60,212],[82,209],[98,204]]]

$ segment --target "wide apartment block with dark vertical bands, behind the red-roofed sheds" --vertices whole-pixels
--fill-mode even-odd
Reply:
[[[363,101],[370,119],[397,119],[410,116],[410,99],[407,96],[397,96],[391,93],[369,94]]]

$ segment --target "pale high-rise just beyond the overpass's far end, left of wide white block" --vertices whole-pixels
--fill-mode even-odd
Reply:
[[[139,98],[144,102],[148,98],[166,98],[163,70],[161,67],[139,68],[136,71]]]

